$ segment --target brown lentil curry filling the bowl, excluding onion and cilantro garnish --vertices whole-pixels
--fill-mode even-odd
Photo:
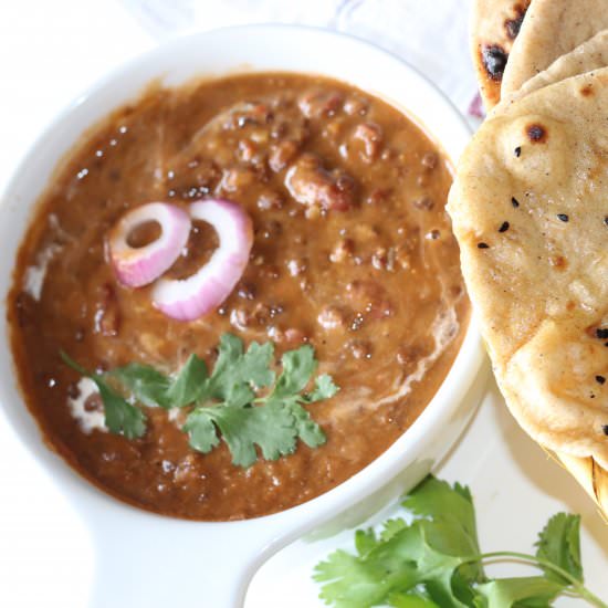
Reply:
[[[18,255],[9,322],[25,401],[48,444],[114,496],[158,513],[237,520],[277,512],[345,481],[413,422],[444,378],[469,304],[444,202],[447,159],[387,103],[307,75],[250,74],[151,87],[90,130],[56,171]],[[129,209],[237,202],[253,226],[229,297],[195,322],[117,282],[108,231]],[[218,247],[195,222],[169,276]],[[156,227],[158,228],[158,227]],[[155,227],[132,234],[135,245]],[[221,334],[314,346],[340,391],[311,403],[325,444],[234,467],[222,442],[188,444],[184,420],[146,408],[138,439],[107,432],[98,394],[65,366],[209,365]],[[93,387],[94,388],[94,387]]]

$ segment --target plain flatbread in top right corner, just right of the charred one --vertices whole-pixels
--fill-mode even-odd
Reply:
[[[503,97],[608,28],[606,0],[532,0],[504,70]]]

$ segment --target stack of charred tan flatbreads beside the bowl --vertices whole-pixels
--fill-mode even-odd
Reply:
[[[475,4],[464,276],[511,411],[608,515],[608,0]]]

